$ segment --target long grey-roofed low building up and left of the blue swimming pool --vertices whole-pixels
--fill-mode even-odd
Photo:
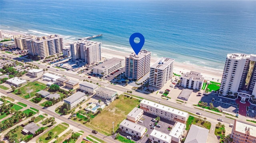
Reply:
[[[68,98],[64,99],[64,102],[69,104],[70,108],[74,108],[76,107],[77,104],[79,104],[85,99],[86,99],[85,93],[78,91],[75,94],[72,94]]]

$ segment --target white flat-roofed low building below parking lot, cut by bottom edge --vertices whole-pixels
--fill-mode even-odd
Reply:
[[[150,142],[154,143],[171,143],[172,141],[172,137],[166,133],[163,133],[162,131],[158,131],[156,129],[154,129],[148,139],[150,140]]]

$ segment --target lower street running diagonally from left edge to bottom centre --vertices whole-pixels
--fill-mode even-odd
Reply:
[[[82,131],[85,131],[86,133],[88,134],[92,134],[92,129],[80,124],[80,123],[76,123],[75,121],[72,121],[70,119],[67,119],[67,118],[64,118],[63,116],[60,116],[59,114],[55,113],[54,111],[50,111],[50,110],[47,110],[47,109],[42,109],[41,106],[37,105],[37,104],[34,104],[32,102],[29,102],[28,100],[26,99],[23,99],[23,98],[20,98],[18,96],[15,96],[13,94],[10,94],[8,92],[6,92],[5,90],[2,90],[0,89],[1,91],[1,95],[4,94],[6,96],[9,96],[11,98],[14,98],[15,100],[18,100],[24,104],[27,104],[28,106],[30,107],[33,107],[33,108],[36,108],[37,110],[39,110],[40,112],[44,112],[50,116],[54,116],[55,118],[57,119],[60,119],[61,121],[65,122],[65,123],[68,123],[69,125],[72,125],[74,127],[77,127],[78,129],[81,129]],[[116,141],[114,140],[112,137],[109,137],[109,136],[106,136],[106,135],[103,135],[101,133],[97,133],[97,134],[94,134],[95,137],[98,137],[99,139],[102,139],[108,143],[120,143],[119,141]]]

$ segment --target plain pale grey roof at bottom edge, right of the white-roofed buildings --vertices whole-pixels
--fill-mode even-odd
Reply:
[[[206,143],[209,129],[191,125],[184,143]]]

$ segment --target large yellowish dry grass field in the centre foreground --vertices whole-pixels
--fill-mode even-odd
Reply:
[[[116,131],[118,129],[117,124],[126,119],[127,114],[139,104],[138,99],[131,99],[120,95],[119,99],[112,102],[109,106],[106,106],[90,123],[86,123],[86,126],[104,133],[105,135],[110,135],[113,129],[112,122],[114,121],[114,131]]]

